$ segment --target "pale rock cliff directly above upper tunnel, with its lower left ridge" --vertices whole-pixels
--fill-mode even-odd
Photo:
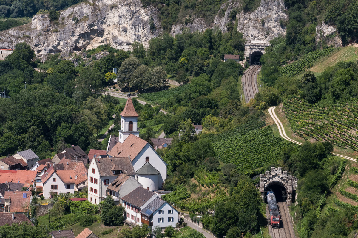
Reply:
[[[226,9],[226,10],[225,10]],[[229,0],[224,3],[218,12],[225,12],[224,16],[218,13],[214,23],[205,24],[203,19],[193,19],[187,25],[174,25],[172,35],[179,34],[183,29],[190,31],[204,31],[207,28],[218,27],[222,32],[227,32],[227,24],[232,23],[230,15],[232,11],[242,9],[240,2]],[[238,12],[237,30],[242,32],[244,38],[250,42],[269,42],[274,37],[285,35],[286,29],[280,22],[288,21],[283,0],[261,0],[260,6],[253,12]]]

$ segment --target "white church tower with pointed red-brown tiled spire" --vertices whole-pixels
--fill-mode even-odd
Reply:
[[[133,134],[139,137],[138,130],[138,114],[134,109],[132,98],[129,96],[126,102],[126,106],[121,115],[121,130],[119,131],[118,141],[123,143],[126,138]]]

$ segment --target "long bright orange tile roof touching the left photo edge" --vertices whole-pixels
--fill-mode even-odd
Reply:
[[[0,170],[0,183],[28,183],[32,184],[35,180],[37,171],[28,170]]]

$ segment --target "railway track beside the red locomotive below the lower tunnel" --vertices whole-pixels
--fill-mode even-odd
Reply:
[[[278,202],[277,204],[279,205],[281,224],[278,229],[270,226],[269,230],[272,238],[296,238],[287,204],[284,202]]]

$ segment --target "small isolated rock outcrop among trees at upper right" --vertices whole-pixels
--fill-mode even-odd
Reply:
[[[322,46],[324,43],[334,47],[342,47],[342,40],[338,36],[334,26],[324,22],[316,26],[316,46]]]

